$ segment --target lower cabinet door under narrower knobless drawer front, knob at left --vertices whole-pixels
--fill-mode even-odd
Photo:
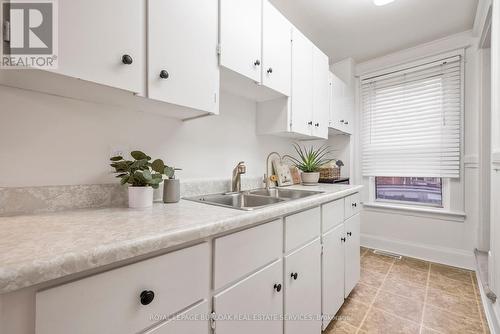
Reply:
[[[321,245],[319,239],[285,258],[285,334],[321,333]],[[313,316],[314,319],[301,319]],[[317,317],[317,318],[316,318]]]

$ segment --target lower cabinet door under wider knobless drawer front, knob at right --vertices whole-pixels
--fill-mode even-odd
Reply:
[[[283,314],[283,262],[281,260],[214,296],[217,334],[282,334],[283,322],[246,318]],[[278,288],[278,285],[279,286]],[[278,291],[279,290],[279,291]]]

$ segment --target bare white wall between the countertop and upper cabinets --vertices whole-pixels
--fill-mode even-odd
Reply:
[[[6,87],[0,101],[2,187],[116,182],[108,159],[117,149],[163,158],[183,179],[229,178],[241,160],[244,177],[262,176],[269,152],[291,152],[289,139],[256,135],[254,102],[228,94],[220,116],[185,123]]]

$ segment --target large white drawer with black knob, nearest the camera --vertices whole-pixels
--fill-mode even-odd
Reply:
[[[140,332],[157,322],[152,315],[207,298],[209,255],[203,243],[38,292],[36,333]],[[154,292],[148,305],[141,303],[143,291]]]

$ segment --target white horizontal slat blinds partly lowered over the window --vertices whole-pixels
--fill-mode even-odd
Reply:
[[[365,176],[460,176],[461,56],[363,79]]]

